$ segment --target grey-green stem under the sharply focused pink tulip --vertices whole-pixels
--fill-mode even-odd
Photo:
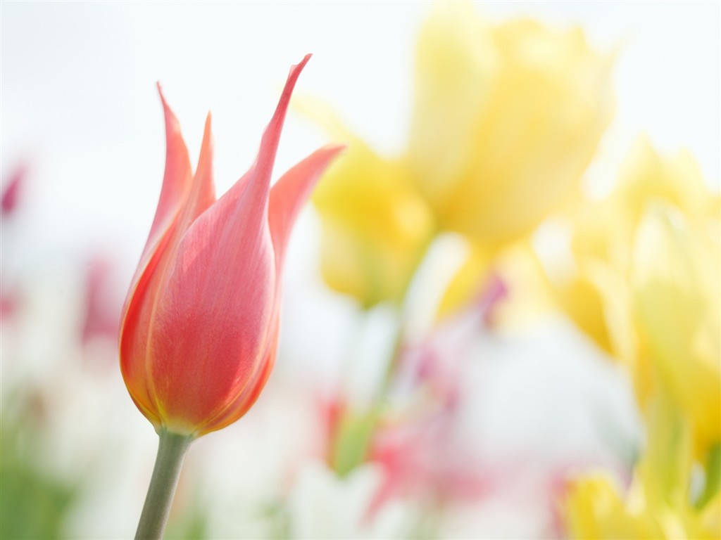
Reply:
[[[193,436],[178,435],[164,429],[160,430],[159,436],[158,456],[155,459],[153,477],[138,523],[136,540],[162,538],[175,495],[175,487],[180,478],[182,462],[190,443],[193,442]]]

